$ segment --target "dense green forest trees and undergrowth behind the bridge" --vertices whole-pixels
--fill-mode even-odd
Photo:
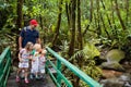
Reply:
[[[123,50],[131,60],[130,14],[131,0],[1,0],[0,52],[11,46],[15,58],[21,28],[36,18],[43,45],[98,79],[95,59],[103,49]],[[75,87],[80,84],[70,78],[76,78]]]

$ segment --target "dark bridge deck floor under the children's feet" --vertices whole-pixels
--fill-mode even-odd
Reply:
[[[46,75],[45,79],[36,80],[29,79],[28,84],[24,83],[22,79],[21,83],[15,82],[15,73],[12,73],[8,79],[7,87],[56,87],[49,75]]]

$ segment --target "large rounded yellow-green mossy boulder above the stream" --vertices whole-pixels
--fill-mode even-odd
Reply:
[[[124,58],[124,52],[118,49],[112,49],[105,55],[107,62],[102,63],[103,69],[111,69],[117,71],[123,71],[124,69],[120,65],[120,60]]]

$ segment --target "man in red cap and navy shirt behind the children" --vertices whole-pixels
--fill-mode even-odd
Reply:
[[[31,20],[29,25],[24,27],[19,37],[19,48],[20,50],[25,47],[25,45],[31,41],[33,44],[40,44],[39,32],[36,30],[38,23],[36,20]]]

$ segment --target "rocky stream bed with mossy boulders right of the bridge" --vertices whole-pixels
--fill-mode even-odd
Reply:
[[[102,63],[103,77],[99,83],[103,87],[131,87],[131,63],[120,64],[124,54],[120,50],[111,50],[107,53],[107,62]]]

